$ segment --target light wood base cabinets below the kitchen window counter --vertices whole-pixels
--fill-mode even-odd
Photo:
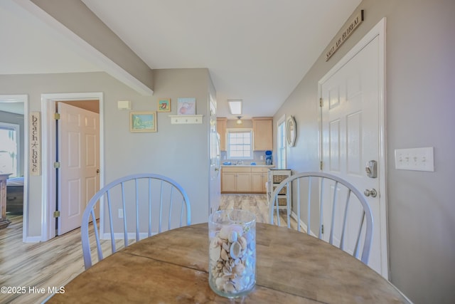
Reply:
[[[223,167],[222,193],[267,193],[265,184],[269,167]]]

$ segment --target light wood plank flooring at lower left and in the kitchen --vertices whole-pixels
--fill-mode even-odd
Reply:
[[[249,210],[257,222],[268,223],[266,195],[223,194],[220,209]],[[9,219],[11,224],[0,230],[0,287],[24,287],[26,292],[0,293],[0,303],[41,303],[49,296],[48,288],[60,288],[84,271],[80,229],[43,243],[23,243],[22,216]],[[45,292],[33,292],[33,287]]]

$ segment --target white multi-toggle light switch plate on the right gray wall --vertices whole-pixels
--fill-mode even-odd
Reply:
[[[434,172],[433,147],[396,149],[395,169]]]

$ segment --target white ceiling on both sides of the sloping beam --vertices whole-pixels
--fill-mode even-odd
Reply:
[[[274,115],[360,1],[82,0],[151,69],[208,68],[229,118]],[[42,23],[0,0],[0,74],[102,70]]]

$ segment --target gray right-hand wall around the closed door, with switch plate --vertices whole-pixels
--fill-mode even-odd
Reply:
[[[330,61],[321,53],[274,115],[296,118],[288,166],[318,170],[318,80],[386,17],[390,280],[414,303],[455,303],[455,1],[364,0],[360,9],[365,21]],[[394,150],[411,147],[434,147],[434,172],[395,169]]]

